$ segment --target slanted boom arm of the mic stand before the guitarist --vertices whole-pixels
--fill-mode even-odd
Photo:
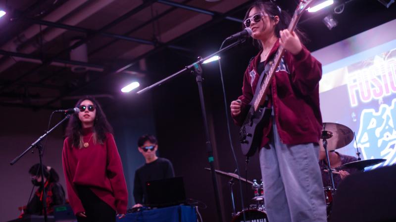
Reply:
[[[237,45],[239,45],[239,44],[241,44],[241,43],[243,43],[243,42],[245,42],[245,39],[238,39],[238,41],[236,41],[236,42],[234,42],[234,43],[228,45],[227,47],[224,47],[223,49],[221,49],[221,50],[219,50],[219,51],[217,51],[217,52],[215,52],[215,53],[213,53],[213,54],[211,54],[211,55],[209,55],[209,56],[206,56],[206,57],[203,58],[203,59],[200,58],[200,57],[198,57],[198,61],[197,61],[197,62],[195,62],[195,63],[193,63],[193,64],[191,64],[191,65],[186,66],[186,68],[180,70],[179,72],[177,72],[177,73],[175,73],[175,74],[172,74],[172,75],[170,75],[170,76],[168,76],[168,77],[166,77],[166,78],[164,78],[164,79],[162,79],[162,80],[159,80],[158,82],[155,82],[154,84],[152,84],[152,85],[150,85],[150,86],[148,86],[148,87],[146,87],[146,88],[144,88],[144,89],[138,91],[137,93],[138,93],[138,94],[142,94],[142,93],[144,93],[144,92],[146,92],[146,91],[148,91],[148,90],[150,90],[150,89],[152,89],[152,88],[154,88],[154,87],[156,87],[156,86],[162,85],[162,83],[167,82],[167,81],[170,80],[170,79],[173,79],[174,77],[178,76],[179,74],[182,74],[182,73],[184,73],[184,72],[186,72],[186,71],[188,71],[188,70],[194,69],[194,67],[195,67],[196,65],[202,64],[203,61],[205,61],[205,60],[207,60],[207,59],[209,59],[209,58],[211,58],[211,57],[213,57],[213,56],[215,56],[215,55],[220,55],[220,54],[223,53],[224,51],[227,51],[228,49],[230,49],[230,48],[232,48],[232,47],[234,47],[234,46],[237,46]]]

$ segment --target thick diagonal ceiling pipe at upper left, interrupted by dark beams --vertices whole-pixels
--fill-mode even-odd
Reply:
[[[104,8],[105,6],[107,6],[108,4],[110,4],[113,1],[114,0],[91,1],[92,3],[87,5],[84,9],[79,10],[75,15],[66,19],[63,23],[66,25],[71,25],[71,26],[77,25],[78,23],[80,23],[81,21],[90,17],[94,13],[98,12],[100,9]],[[43,34],[43,41],[45,41],[45,42],[51,41],[52,39],[63,34],[65,31],[66,30],[64,30],[64,29],[51,29],[48,32]],[[33,44],[29,44],[28,46],[26,46],[25,48],[20,50],[20,52],[25,53],[25,54],[30,54],[30,53],[34,52],[36,49],[37,48]],[[12,50],[12,51],[14,51],[14,50]],[[0,64],[0,73],[3,72],[4,70],[10,68],[14,64],[15,64],[15,62],[12,59],[8,58],[7,60],[5,60],[3,63]]]

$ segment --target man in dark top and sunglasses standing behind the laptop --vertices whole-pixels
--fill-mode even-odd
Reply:
[[[136,204],[132,208],[143,207],[142,204],[146,203],[146,182],[175,177],[172,163],[156,155],[158,144],[154,136],[141,136],[138,140],[138,149],[145,157],[146,163],[135,171],[133,196]]]

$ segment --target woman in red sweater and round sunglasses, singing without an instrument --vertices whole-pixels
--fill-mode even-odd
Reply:
[[[99,103],[80,99],[70,117],[62,162],[70,205],[78,222],[123,218],[128,192],[112,128]]]

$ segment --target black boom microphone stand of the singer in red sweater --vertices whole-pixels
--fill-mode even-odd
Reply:
[[[66,121],[66,119],[70,118],[70,115],[66,115],[58,124],[56,124],[54,127],[52,127],[49,131],[47,131],[45,134],[43,134],[39,139],[37,139],[35,142],[33,142],[30,147],[28,147],[25,151],[23,151],[19,156],[15,157],[9,164],[14,165],[23,155],[25,155],[29,150],[32,148],[37,148],[39,150],[39,159],[40,159],[40,166],[41,166],[41,185],[43,188],[43,211],[44,211],[44,221],[48,222],[48,215],[47,215],[47,191],[46,187],[44,187],[44,165],[43,165],[43,146],[41,144],[41,141],[50,133],[52,130],[54,130],[57,126],[59,126],[62,122]],[[32,151],[34,152],[34,150]]]

